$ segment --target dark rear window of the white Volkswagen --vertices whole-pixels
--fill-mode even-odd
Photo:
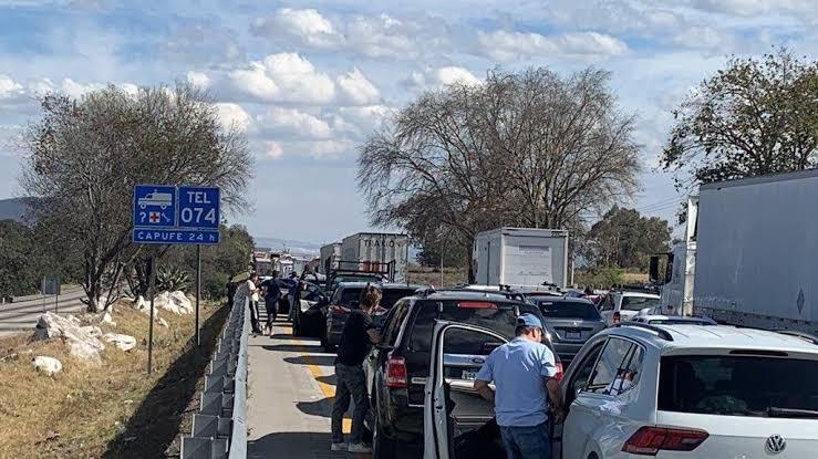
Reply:
[[[818,361],[735,355],[662,357],[659,409],[818,418]]]

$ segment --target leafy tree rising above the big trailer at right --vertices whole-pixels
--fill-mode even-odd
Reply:
[[[815,167],[816,94],[816,61],[786,49],[733,58],[674,111],[662,166],[679,188]]]

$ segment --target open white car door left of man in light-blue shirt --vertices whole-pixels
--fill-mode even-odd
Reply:
[[[507,342],[479,326],[436,322],[423,404],[424,459],[505,459],[494,406],[474,380],[491,351]]]

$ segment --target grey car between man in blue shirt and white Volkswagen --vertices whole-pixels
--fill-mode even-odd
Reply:
[[[580,298],[540,300],[537,305],[546,320],[555,351],[562,362],[570,362],[591,336],[605,328],[597,306]]]

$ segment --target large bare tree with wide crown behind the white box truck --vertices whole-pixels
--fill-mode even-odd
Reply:
[[[633,117],[608,79],[593,69],[567,79],[497,70],[479,85],[423,94],[361,148],[359,188],[373,225],[455,232],[472,269],[482,230],[576,228],[588,211],[631,196]]]

